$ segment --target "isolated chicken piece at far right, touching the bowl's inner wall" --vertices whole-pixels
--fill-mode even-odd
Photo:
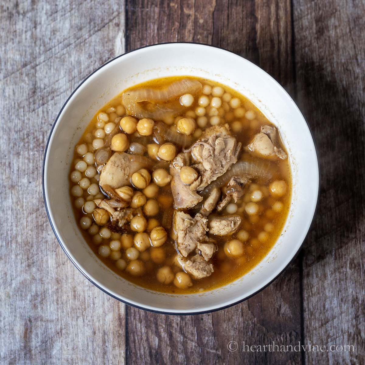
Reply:
[[[252,142],[247,148],[264,157],[278,157],[281,160],[287,158],[287,154],[281,149],[276,147],[277,144],[277,131],[275,127],[262,126],[261,132],[256,134]]]

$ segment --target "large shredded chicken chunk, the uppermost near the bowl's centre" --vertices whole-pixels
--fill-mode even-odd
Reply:
[[[191,167],[200,175],[190,188],[201,191],[237,162],[241,142],[237,145],[236,139],[225,126],[213,126],[205,130],[203,137],[189,150],[199,162]]]

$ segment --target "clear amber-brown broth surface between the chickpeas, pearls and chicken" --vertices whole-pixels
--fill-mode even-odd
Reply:
[[[160,78],[157,80],[152,80],[149,82],[145,82],[143,84],[136,85],[134,88],[140,88],[140,87],[153,87],[153,88],[161,87],[162,88],[162,87],[165,87],[166,84],[169,84],[173,81],[180,80],[181,78],[183,78],[183,77]],[[198,78],[196,78],[196,80],[199,80],[203,85],[208,84],[208,85],[214,85],[214,86],[217,85],[217,86],[223,87],[225,92],[228,92],[232,95],[232,97],[237,97],[238,99],[241,100],[241,107],[245,108],[246,111],[251,110],[256,114],[256,117],[254,120],[248,120],[244,116],[242,118],[237,118],[234,116],[234,110],[232,108],[230,108],[229,105],[227,107],[227,105],[225,105],[223,101],[222,101],[222,107],[219,109],[219,113],[220,113],[220,115],[222,115],[222,119],[224,119],[224,122],[220,123],[220,124],[228,123],[231,127],[231,134],[236,137],[238,142],[242,143],[242,149],[241,149],[242,153],[239,158],[245,158],[246,160],[257,159],[255,157],[251,157],[251,155],[249,153],[245,152],[243,150],[243,147],[247,146],[249,144],[249,142],[251,141],[251,139],[254,137],[254,135],[257,134],[258,132],[260,132],[261,126],[263,126],[263,125],[272,126],[272,123],[269,122],[269,120],[260,112],[260,110],[258,110],[257,107],[255,107],[255,105],[253,103],[251,103],[251,101],[249,101],[247,98],[243,97],[239,93],[235,92],[234,90],[232,90],[224,85],[220,85],[216,82],[212,82],[209,80],[203,80],[203,79],[198,79]],[[210,95],[210,97],[211,97],[211,95]],[[192,106],[187,108],[189,111],[194,111],[196,109],[196,107],[198,106],[197,100],[198,100],[198,97],[196,96]],[[87,145],[90,145],[92,142],[92,139],[95,138],[95,137],[92,137],[91,134],[93,133],[93,131],[96,130],[95,123],[97,121],[97,115],[99,114],[99,112],[101,112],[101,111],[106,112],[111,107],[116,108],[116,107],[118,107],[118,105],[121,105],[121,103],[122,103],[122,93],[120,95],[116,96],[114,99],[112,99],[107,104],[105,104],[105,106],[103,108],[101,108],[95,114],[95,116],[89,123],[88,127],[85,129],[84,134],[82,135],[82,137],[80,138],[80,141],[78,142],[78,145],[81,145],[82,143],[86,143]],[[226,110],[224,110],[224,108],[226,108]],[[120,108],[119,108],[119,110],[120,110]],[[125,115],[127,115],[127,114],[122,113],[122,115],[120,115],[120,116],[123,117]],[[189,115],[189,112],[188,112],[188,115]],[[114,121],[115,118],[118,118],[118,115],[116,114],[116,112],[111,112],[109,122]],[[173,120],[172,120],[172,122],[173,122]],[[241,123],[241,124],[239,124],[239,123]],[[241,130],[238,130],[239,125],[242,126]],[[204,131],[205,128],[208,128],[208,127],[210,127],[209,122],[207,123],[206,127],[200,128],[200,129],[202,131]],[[197,128],[199,128],[199,127],[197,127]],[[107,136],[105,136],[105,138],[106,137]],[[139,139],[140,139],[141,140],[140,143],[145,146],[147,145],[147,143],[155,143],[153,141],[152,137],[139,137],[138,138],[138,137],[135,137],[134,135],[128,135],[128,137],[130,137],[130,141],[132,141],[132,142],[139,142]],[[195,140],[199,139],[199,137],[195,138]],[[283,148],[282,145],[281,145],[281,148]],[[89,147],[89,151],[92,151],[91,147]],[[178,150],[178,153],[179,152],[180,152],[180,150]],[[145,153],[145,155],[147,155],[147,153]],[[70,173],[74,171],[74,165],[76,163],[75,161],[79,160],[79,159],[82,159],[82,157],[77,154],[76,149],[75,149],[74,163],[72,164]],[[112,260],[111,258],[101,257],[101,255],[98,253],[98,247],[100,245],[99,244],[95,245],[92,240],[92,235],[89,234],[87,230],[85,231],[85,230],[81,229],[81,226],[79,224],[80,219],[83,216],[89,216],[92,219],[92,214],[85,214],[82,211],[82,209],[78,209],[75,207],[74,201],[77,200],[77,197],[74,197],[71,194],[71,189],[77,183],[73,183],[71,180],[70,180],[70,196],[71,196],[71,200],[73,203],[72,205],[74,208],[75,218],[76,218],[76,221],[78,222],[82,235],[84,236],[86,242],[91,247],[93,252],[97,255],[97,257],[99,257],[99,259],[101,261],[103,261],[104,264],[107,265],[111,270],[113,270],[114,272],[116,272],[117,274],[119,274],[120,276],[125,278],[126,280],[131,281],[132,283],[135,283],[137,285],[140,285],[141,287],[145,287],[145,288],[155,290],[155,291],[161,291],[161,292],[167,292],[167,293],[202,292],[202,291],[207,291],[207,290],[215,289],[215,288],[221,287],[223,285],[226,285],[227,283],[230,283],[230,282],[236,280],[237,278],[243,276],[245,273],[249,272],[256,265],[258,265],[261,260],[263,260],[263,258],[272,249],[274,243],[277,241],[278,237],[280,236],[281,231],[283,230],[283,226],[284,226],[285,221],[288,216],[289,205],[290,205],[290,201],[291,201],[291,190],[292,190],[291,171],[290,171],[288,159],[286,159],[286,160],[277,159],[277,160],[271,161],[270,165],[273,168],[273,176],[269,180],[268,183],[266,183],[264,185],[264,183],[260,180],[256,180],[256,181],[253,180],[251,183],[251,185],[257,184],[258,187],[261,189],[261,191],[264,193],[263,199],[260,202],[258,202],[259,208],[260,208],[260,213],[257,216],[252,217],[252,216],[247,215],[247,213],[244,211],[244,209],[241,208],[241,205],[244,204],[244,201],[246,201],[246,202],[249,201],[249,197],[247,196],[247,194],[249,194],[248,192],[246,193],[246,195],[244,195],[242,197],[242,199],[240,199],[236,203],[238,206],[238,211],[235,214],[241,215],[241,217],[242,217],[241,227],[239,228],[238,232],[241,230],[246,230],[249,233],[249,239],[247,240],[247,242],[243,242],[244,254],[240,258],[228,258],[223,250],[224,243],[227,241],[236,239],[238,232],[234,233],[233,235],[228,235],[228,236],[223,236],[223,237],[219,237],[219,236],[215,236],[215,235],[211,235],[211,234],[207,233],[208,237],[212,237],[216,240],[216,243],[218,246],[218,251],[215,253],[215,255],[210,260],[210,263],[213,264],[214,272],[211,274],[211,276],[200,279],[200,280],[195,280],[192,278],[193,285],[192,285],[192,287],[189,287],[188,289],[179,289],[173,284],[173,282],[168,285],[161,284],[158,282],[158,280],[156,278],[156,271],[158,270],[158,268],[161,268],[162,266],[165,266],[165,265],[170,266],[174,273],[183,271],[180,266],[176,266],[173,264],[174,257],[176,256],[177,251],[176,251],[175,243],[169,237],[170,232],[167,229],[166,229],[166,232],[168,234],[168,240],[164,243],[164,245],[161,246],[161,248],[164,249],[164,251],[165,251],[165,260],[161,264],[154,263],[149,258],[149,254],[150,254],[151,250],[153,250],[153,247],[151,247],[151,248],[147,249],[146,251],[144,251],[143,253],[139,254],[138,259],[143,261],[145,264],[144,274],[142,276],[137,276],[137,277],[132,276],[124,270],[123,271],[119,270],[115,266],[115,261]],[[82,177],[85,177],[84,173],[82,173]],[[91,181],[91,183],[97,183],[96,178],[91,178],[89,180]],[[287,184],[287,192],[285,193],[285,195],[283,197],[273,198],[269,194],[269,191],[268,191],[269,184],[275,180],[284,180]],[[153,180],[151,179],[151,183],[152,182],[153,182]],[[248,190],[251,188],[251,185],[249,186]],[[137,189],[134,188],[134,190],[137,190]],[[87,201],[87,199],[86,199],[87,196],[88,196],[87,190],[84,190],[84,194],[82,197],[85,199],[85,201]],[[160,222],[159,225],[161,225],[164,213],[167,212],[165,214],[169,214],[172,217],[173,211],[174,211],[173,197],[171,194],[170,184],[166,185],[165,187],[160,187],[157,197],[155,199],[160,204],[160,211],[158,212],[158,214],[156,216],[148,217],[148,218],[157,219]],[[275,201],[280,201],[281,203],[283,203],[283,208],[280,212],[274,212],[272,209],[272,205]],[[192,216],[194,216],[196,213],[196,211],[194,211],[194,210],[187,210],[185,212],[187,212],[188,214],[190,214]],[[229,215],[229,214],[227,214],[226,209],[224,209],[220,215],[224,216],[224,215]],[[148,218],[147,218],[147,221],[149,220]],[[260,241],[258,241],[257,237],[262,231],[264,231],[265,224],[268,224],[268,223],[271,223],[273,225],[273,230],[268,233],[268,239],[265,242],[260,242]],[[107,226],[109,228],[113,227],[111,225],[111,223],[108,223]],[[123,230],[120,230],[119,228],[118,229],[111,228],[111,229],[114,229],[115,231],[118,231],[120,233],[124,232],[124,233],[132,234],[132,235],[135,234],[135,232],[131,231],[129,224],[124,225],[123,228],[125,228],[125,229],[123,229]],[[150,231],[148,231],[148,230],[146,230],[146,232],[148,234],[150,233]],[[112,241],[112,238],[103,239],[101,242],[101,245],[108,245],[110,241]],[[123,248],[120,250],[120,252],[122,254],[121,258],[128,262],[124,251],[125,250]]]

